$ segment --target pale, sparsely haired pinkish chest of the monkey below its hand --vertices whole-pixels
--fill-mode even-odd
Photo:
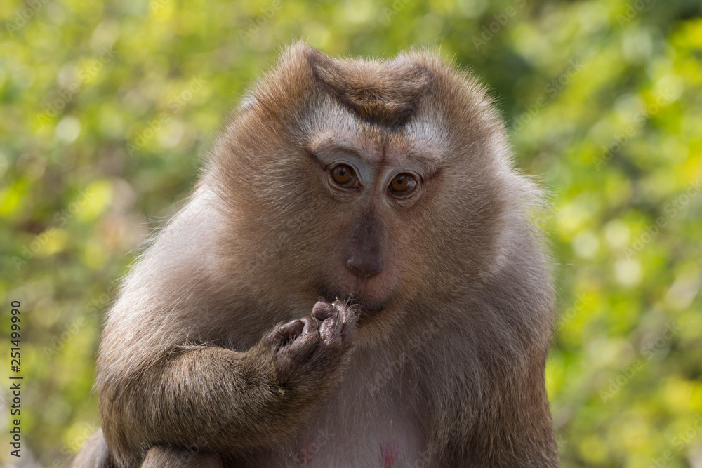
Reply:
[[[296,441],[247,467],[431,467],[420,428],[402,408],[323,415]]]

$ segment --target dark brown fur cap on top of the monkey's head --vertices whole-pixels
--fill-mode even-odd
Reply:
[[[429,69],[400,56],[392,62],[334,60],[305,46],[307,62],[322,89],[361,119],[401,126],[432,83]]]

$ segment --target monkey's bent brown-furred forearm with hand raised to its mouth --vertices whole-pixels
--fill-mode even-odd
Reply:
[[[353,318],[318,303],[247,352],[180,347],[126,382],[100,388],[102,426],[117,460],[150,446],[244,453],[283,441],[329,394],[347,363]]]

